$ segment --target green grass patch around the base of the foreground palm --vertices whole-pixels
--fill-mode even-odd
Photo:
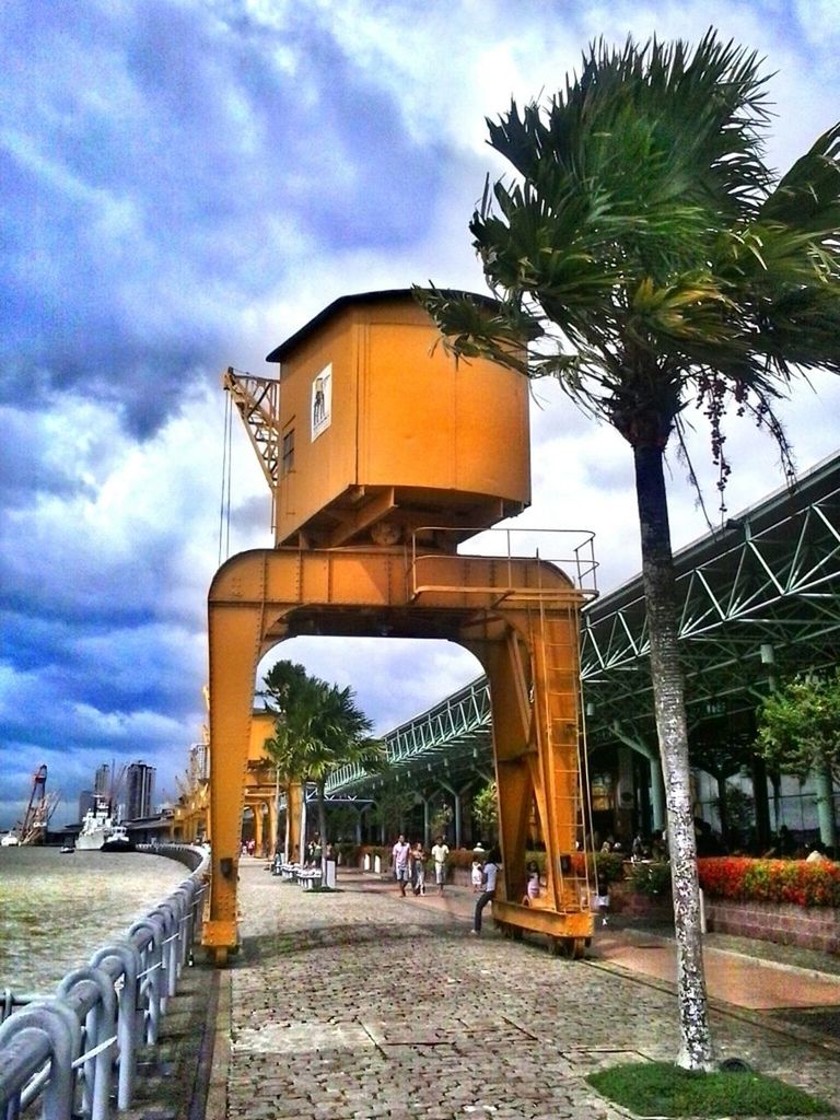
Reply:
[[[833,1112],[825,1101],[760,1073],[690,1073],[669,1062],[617,1065],[586,1079],[638,1117],[772,1117]]]

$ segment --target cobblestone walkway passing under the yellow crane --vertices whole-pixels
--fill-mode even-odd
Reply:
[[[241,866],[243,952],[223,973],[207,1120],[612,1120],[584,1076],[673,1060],[672,992],[468,936],[452,907],[347,875],[318,894]],[[465,899],[469,905],[469,899]],[[840,1107],[837,1055],[711,1012],[719,1057]]]

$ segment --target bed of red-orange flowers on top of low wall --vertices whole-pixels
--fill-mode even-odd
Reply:
[[[840,865],[830,860],[748,859],[697,861],[700,886],[712,898],[840,907]]]

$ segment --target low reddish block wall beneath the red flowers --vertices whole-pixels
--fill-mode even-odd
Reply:
[[[819,949],[824,953],[840,952],[840,913],[828,906],[804,907],[707,897],[706,926],[716,933]]]

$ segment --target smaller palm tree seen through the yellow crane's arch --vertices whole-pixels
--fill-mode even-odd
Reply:
[[[375,767],[382,746],[370,738],[373,725],[356,706],[349,685],[339,689],[288,661],[277,662],[264,683],[263,694],[280,706],[274,738],[265,747],[287,781],[315,783],[318,832],[326,846],[325,786],[329,775],[351,763]]]

